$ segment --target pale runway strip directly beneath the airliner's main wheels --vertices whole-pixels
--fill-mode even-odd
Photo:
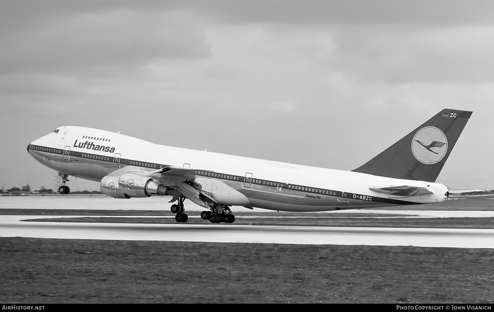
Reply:
[[[1,237],[494,248],[494,230],[30,222],[1,216]],[[72,216],[74,217],[74,216]]]

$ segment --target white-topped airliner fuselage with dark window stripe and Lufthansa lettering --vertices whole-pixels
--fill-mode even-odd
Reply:
[[[245,195],[248,203],[241,205],[280,211],[436,203],[448,192],[438,183],[170,147],[79,126],[59,127],[58,133],[32,142],[28,152],[53,170],[97,182],[128,171],[190,167],[199,183],[220,180]],[[402,185],[427,188],[432,194],[397,196],[369,189]]]

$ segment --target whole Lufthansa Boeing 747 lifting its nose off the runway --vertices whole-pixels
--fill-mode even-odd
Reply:
[[[203,206],[204,220],[233,223],[231,206],[328,211],[444,201],[434,183],[472,112],[444,109],[352,171],[158,145],[120,133],[62,126],[35,140],[28,153],[69,176],[100,182],[115,198],[169,195],[177,222],[184,200]]]

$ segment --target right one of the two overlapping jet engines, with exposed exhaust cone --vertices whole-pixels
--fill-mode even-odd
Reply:
[[[139,173],[124,173],[118,180],[120,189],[131,197],[148,197],[151,195],[169,195],[170,189],[159,180]]]

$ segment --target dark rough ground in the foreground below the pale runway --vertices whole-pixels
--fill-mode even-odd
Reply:
[[[0,238],[2,303],[494,303],[494,250]]]

